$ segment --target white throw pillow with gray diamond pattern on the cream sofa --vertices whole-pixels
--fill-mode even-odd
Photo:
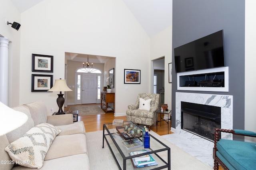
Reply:
[[[21,166],[41,168],[44,157],[61,129],[49,123],[41,123],[32,127],[21,138],[10,143],[5,150],[9,156]]]

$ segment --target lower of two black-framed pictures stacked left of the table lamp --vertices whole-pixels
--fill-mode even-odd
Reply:
[[[52,88],[53,75],[32,74],[31,92],[47,92]]]

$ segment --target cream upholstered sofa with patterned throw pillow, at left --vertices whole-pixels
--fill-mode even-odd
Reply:
[[[13,109],[28,115],[28,121],[0,136],[0,170],[90,169],[82,121],[73,123],[72,114],[47,116],[42,101]]]

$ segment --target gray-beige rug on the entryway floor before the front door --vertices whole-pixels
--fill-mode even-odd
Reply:
[[[69,111],[78,110],[78,116],[105,114],[99,105],[71,106]]]

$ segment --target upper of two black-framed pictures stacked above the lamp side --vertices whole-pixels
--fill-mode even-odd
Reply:
[[[53,56],[32,54],[33,72],[53,72]]]

